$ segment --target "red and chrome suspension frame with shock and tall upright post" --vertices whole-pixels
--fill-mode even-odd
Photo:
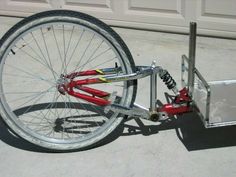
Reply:
[[[171,115],[182,114],[192,111],[192,90],[194,81],[194,68],[195,68],[195,47],[196,47],[196,23],[190,24],[190,42],[189,42],[189,73],[188,73],[188,87],[183,87],[178,90],[175,81],[170,75],[164,77],[166,70],[161,66],[156,66],[155,61],[151,66],[137,66],[136,72],[131,74],[123,74],[121,67],[116,64],[115,68],[104,68],[96,70],[87,70],[74,72],[69,75],[62,75],[58,81],[58,91],[61,94],[69,94],[71,96],[83,99],[98,106],[104,106],[106,111],[112,110],[113,112],[122,113],[129,116],[139,116],[149,120],[163,120]],[[168,73],[168,72],[167,72]],[[169,73],[168,73],[169,74]],[[166,83],[167,87],[175,94],[175,99],[172,103],[164,104],[157,107],[157,75]],[[100,76],[97,78],[87,78],[74,80],[83,76]],[[150,77],[150,108],[144,108],[138,104],[134,107],[123,107],[114,104],[109,97],[114,94],[102,90],[88,87],[92,84],[123,82],[129,80],[141,79]],[[87,94],[80,93],[83,91]]]

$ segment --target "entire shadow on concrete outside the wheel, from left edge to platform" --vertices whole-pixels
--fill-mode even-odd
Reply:
[[[110,143],[121,136],[138,134],[149,136],[170,129],[175,129],[179,140],[188,151],[236,146],[236,126],[205,129],[200,118],[194,113],[172,118],[160,125],[145,125],[139,118],[135,118],[135,124],[130,125],[129,121],[131,120],[132,118],[125,119],[114,132],[97,146]],[[1,119],[0,132],[0,139],[10,146],[27,151],[48,152],[48,150],[28,143],[14,135]]]

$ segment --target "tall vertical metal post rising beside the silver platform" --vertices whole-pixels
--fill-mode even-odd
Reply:
[[[189,71],[188,71],[188,90],[192,96],[194,89],[194,70],[195,70],[195,53],[196,53],[196,34],[197,23],[190,22],[189,31]]]

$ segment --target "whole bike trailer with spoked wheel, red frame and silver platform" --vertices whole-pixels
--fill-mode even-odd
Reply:
[[[16,135],[43,148],[91,148],[127,116],[160,124],[192,112],[186,116],[198,116],[205,128],[236,125],[236,80],[207,82],[195,67],[196,23],[190,23],[189,55],[182,56],[182,87],[155,61],[135,67],[119,35],[80,12],[33,15],[0,43],[2,118]],[[149,108],[134,102],[136,81],[145,77],[150,78]],[[158,77],[174,93],[165,95],[164,105],[157,101]]]

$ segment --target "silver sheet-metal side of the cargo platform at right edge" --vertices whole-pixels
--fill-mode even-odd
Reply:
[[[236,80],[208,82],[209,90],[201,80],[196,81],[193,99],[205,127],[236,124]]]

